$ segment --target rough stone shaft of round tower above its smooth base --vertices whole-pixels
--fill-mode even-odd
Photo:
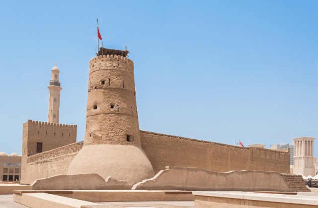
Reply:
[[[89,61],[84,145],[141,146],[134,63],[104,55]]]

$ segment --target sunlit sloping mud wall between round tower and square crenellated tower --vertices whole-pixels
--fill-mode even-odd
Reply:
[[[29,156],[22,163],[24,177],[21,183],[31,184],[36,179],[66,174],[73,158],[83,147],[83,142],[76,142],[34,156]]]

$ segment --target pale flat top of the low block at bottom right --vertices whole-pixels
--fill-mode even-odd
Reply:
[[[193,195],[205,196],[205,197],[219,197],[219,198],[230,198],[230,199],[241,199],[241,200],[253,200],[263,202],[276,202],[276,203],[287,203],[287,204],[300,204],[300,205],[315,205],[318,206],[317,196],[308,195],[283,195],[283,194],[263,194],[253,192],[200,192],[194,191]]]

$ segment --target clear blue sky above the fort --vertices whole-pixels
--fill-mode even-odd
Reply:
[[[135,62],[141,130],[243,145],[318,137],[318,1],[0,1],[0,152],[47,121],[84,139],[89,60],[103,45]],[[315,155],[318,156],[318,141]]]

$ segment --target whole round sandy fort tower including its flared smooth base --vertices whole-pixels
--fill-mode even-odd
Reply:
[[[154,176],[141,148],[134,62],[123,53],[106,50],[89,61],[84,146],[68,174],[97,173],[130,185]]]

